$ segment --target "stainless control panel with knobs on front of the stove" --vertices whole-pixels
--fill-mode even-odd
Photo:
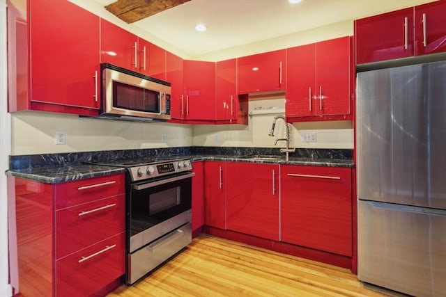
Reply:
[[[190,160],[163,161],[128,168],[132,182],[192,170]]]

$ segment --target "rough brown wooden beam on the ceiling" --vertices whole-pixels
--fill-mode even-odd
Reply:
[[[187,1],[190,0],[118,0],[105,6],[105,9],[131,24]]]

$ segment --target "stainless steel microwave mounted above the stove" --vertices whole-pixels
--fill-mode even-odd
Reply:
[[[170,120],[171,83],[101,64],[100,117],[120,120]]]

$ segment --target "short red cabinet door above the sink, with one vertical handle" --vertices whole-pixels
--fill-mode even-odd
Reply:
[[[238,58],[238,94],[285,90],[285,61],[285,49]]]

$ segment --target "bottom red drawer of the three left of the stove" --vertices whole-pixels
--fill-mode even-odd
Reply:
[[[56,296],[91,296],[125,273],[125,232],[56,261]]]

